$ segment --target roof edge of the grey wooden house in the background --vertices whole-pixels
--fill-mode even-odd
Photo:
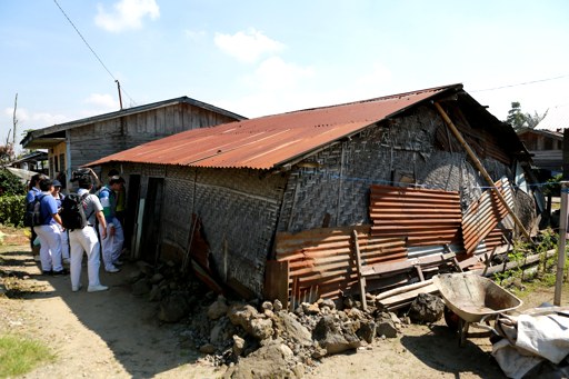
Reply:
[[[106,121],[106,120],[113,119],[113,118],[117,118],[117,117],[126,117],[126,116],[131,116],[131,114],[137,114],[137,113],[140,113],[140,112],[144,112],[144,111],[148,111],[148,110],[151,110],[151,109],[164,108],[164,107],[168,107],[168,106],[171,106],[171,104],[176,104],[176,103],[188,103],[190,106],[194,106],[194,107],[198,107],[198,108],[201,108],[201,109],[210,110],[210,111],[217,112],[219,114],[223,114],[223,116],[227,116],[227,117],[232,117],[237,121],[242,121],[242,120],[247,120],[248,119],[244,116],[241,116],[241,114],[238,114],[238,113],[233,113],[233,112],[228,111],[226,109],[212,106],[212,104],[203,102],[203,101],[199,101],[199,100],[189,98],[187,96],[182,96],[182,97],[179,97],[179,98],[173,98],[173,99],[169,99],[169,100],[151,102],[151,103],[142,104],[142,106],[138,106],[138,107],[126,108],[126,109],[117,110],[117,111],[113,111],[113,112],[108,112],[108,113],[98,114],[98,116],[91,116],[91,117],[87,117],[87,118],[74,120],[74,121],[68,121],[68,122],[63,122],[63,123],[56,123],[56,124],[52,124],[51,127],[31,130],[20,141],[20,144],[23,148],[26,148],[34,138],[40,138],[42,136],[51,134],[51,133],[54,133],[54,132],[58,132],[58,131],[63,131],[63,130],[68,130],[68,129],[77,128],[77,127],[82,127],[82,126],[86,126],[86,124],[89,124],[89,123],[93,123],[93,122]]]

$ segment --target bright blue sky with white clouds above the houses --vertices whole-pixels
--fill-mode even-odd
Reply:
[[[569,103],[566,0],[0,0],[0,144],[188,96],[248,117],[462,83]],[[9,137],[10,136],[10,137]]]

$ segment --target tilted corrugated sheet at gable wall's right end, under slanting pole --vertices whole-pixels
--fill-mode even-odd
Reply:
[[[508,179],[502,178],[498,180],[495,187],[500,189],[508,206],[513,209],[513,192]],[[480,199],[472,202],[462,217],[462,236],[467,253],[472,255],[478,243],[480,243],[507,215],[508,210],[491,189],[485,191]]]

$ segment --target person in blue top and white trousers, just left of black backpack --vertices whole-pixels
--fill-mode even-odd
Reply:
[[[61,260],[61,218],[58,213],[58,203],[51,195],[53,182],[50,179],[40,181],[41,195],[39,202],[39,223],[33,230],[40,239],[40,262],[43,275],[67,275]]]

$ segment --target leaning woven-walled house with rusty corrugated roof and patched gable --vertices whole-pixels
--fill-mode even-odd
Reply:
[[[529,163],[513,129],[452,84],[189,130],[88,166],[140,183],[132,258],[295,303],[467,269],[529,238],[542,211]]]

